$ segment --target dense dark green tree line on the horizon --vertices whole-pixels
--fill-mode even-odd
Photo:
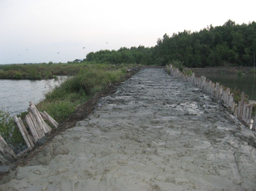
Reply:
[[[164,34],[154,47],[122,47],[119,50],[90,52],[84,61],[165,65],[179,60],[186,67],[253,66],[256,51],[256,23],[207,26],[199,32],[184,30]]]

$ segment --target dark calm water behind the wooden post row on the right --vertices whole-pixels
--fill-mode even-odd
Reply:
[[[206,76],[207,79],[213,82],[220,82],[226,87],[232,89],[239,89],[244,91],[249,99],[256,100],[256,77],[253,74],[244,74],[237,76],[237,74],[211,74],[211,73],[196,73],[197,77]]]

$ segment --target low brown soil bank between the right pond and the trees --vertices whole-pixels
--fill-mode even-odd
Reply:
[[[226,74],[236,74],[238,70],[243,73],[249,73],[253,67],[207,67],[207,68],[189,68],[195,73],[226,73]]]

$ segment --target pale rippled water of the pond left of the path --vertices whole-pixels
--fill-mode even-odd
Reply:
[[[11,115],[27,111],[28,101],[35,104],[44,99],[44,94],[55,85],[59,85],[67,77],[58,80],[14,80],[0,79],[0,109],[4,107]]]

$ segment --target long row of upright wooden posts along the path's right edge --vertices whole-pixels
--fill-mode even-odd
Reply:
[[[224,106],[229,108],[235,117],[244,121],[250,129],[252,126],[252,130],[255,131],[256,120],[253,120],[253,124],[251,124],[253,104],[247,104],[247,102],[244,101],[244,92],[242,92],[241,101],[238,101],[237,104],[234,102],[234,94],[230,93],[230,89],[227,88],[224,90],[219,82],[213,83],[211,80],[206,79],[205,76],[195,77],[194,72],[191,76],[185,75],[172,65],[169,65],[168,67],[171,76],[190,82],[191,84],[198,86],[204,92],[210,94],[212,97],[222,101]],[[256,119],[256,113],[253,119]]]

